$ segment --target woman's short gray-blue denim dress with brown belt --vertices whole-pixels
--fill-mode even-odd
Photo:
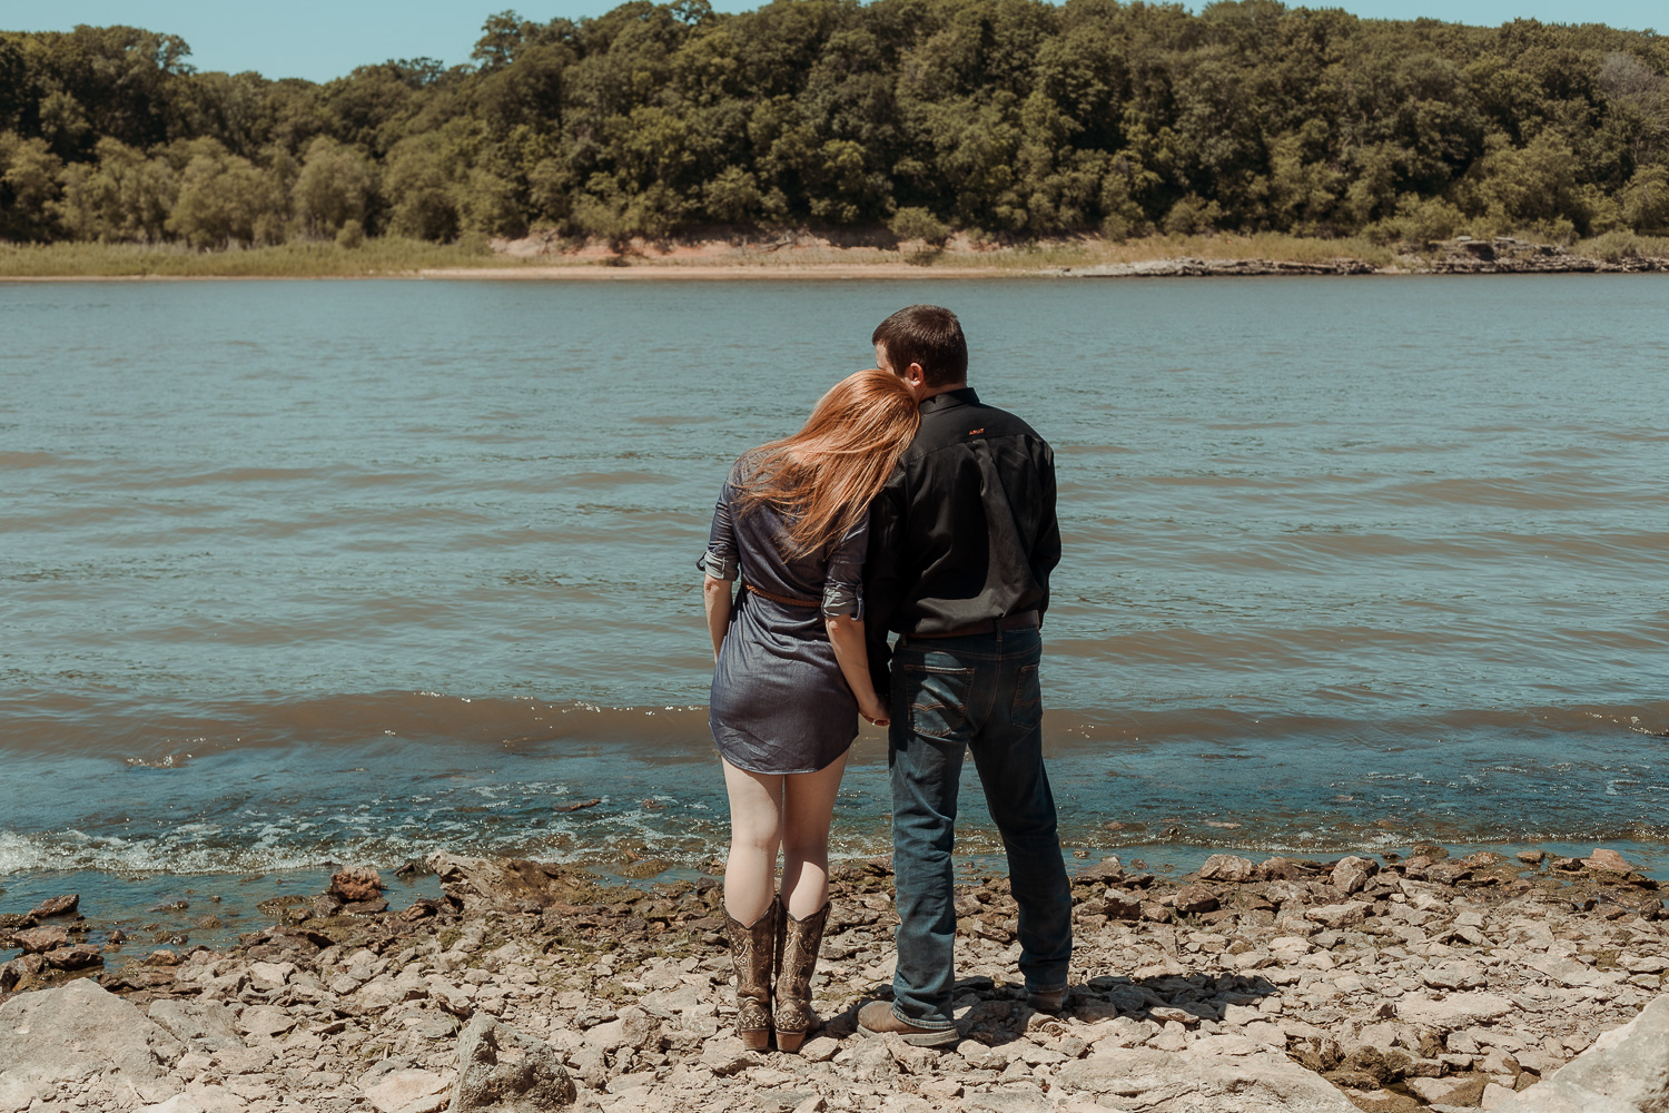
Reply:
[[[733,766],[749,773],[816,773],[858,736],[858,699],[823,619],[863,617],[870,519],[865,514],[818,552],[784,557],[783,516],[768,506],[738,512],[736,482],[733,467],[699,567],[726,581],[739,572],[743,584],[766,594],[741,591],[731,607],[713,669],[713,741]]]

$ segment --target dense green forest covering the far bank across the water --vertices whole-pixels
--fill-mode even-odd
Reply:
[[[0,239],[1669,230],[1669,38],[1599,25],[633,0],[322,85],[189,57],[0,32]]]

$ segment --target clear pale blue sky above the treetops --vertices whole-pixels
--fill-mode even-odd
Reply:
[[[200,70],[259,70],[267,77],[329,80],[355,65],[386,58],[431,57],[452,65],[469,60],[482,20],[506,0],[0,0],[3,30],[68,30],[77,23],[130,23],[170,32],[192,47]],[[524,17],[577,18],[613,7],[608,0],[556,0],[516,7]],[[753,2],[716,0],[739,12]],[[1190,7],[1198,8],[1198,3]],[[1432,17],[1454,23],[1497,25],[1515,17],[1547,23],[1611,23],[1632,30],[1669,30],[1662,0],[1345,0],[1372,18]]]

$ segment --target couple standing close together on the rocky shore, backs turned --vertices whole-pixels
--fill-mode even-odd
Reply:
[[[871,339],[876,369],[838,382],[794,436],[736,461],[701,559],[731,808],[736,1026],[754,1050],[774,1031],[798,1051],[816,1023],[829,819],[860,714],[890,728],[901,923],[893,1000],[866,1003],[858,1030],[958,1040],[951,848],[966,756],[1008,854],[1030,1003],[1056,1011],[1066,993],[1071,891],[1038,691],[1060,561],[1053,454],[968,387],[948,309],[910,305]]]

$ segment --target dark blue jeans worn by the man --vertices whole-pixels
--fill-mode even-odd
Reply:
[[[956,983],[951,848],[963,754],[1008,851],[1020,904],[1020,973],[1028,990],[1066,985],[1071,886],[1043,771],[1038,631],[901,639],[893,654],[893,873],[898,973],[893,1013],[950,1028]]]

